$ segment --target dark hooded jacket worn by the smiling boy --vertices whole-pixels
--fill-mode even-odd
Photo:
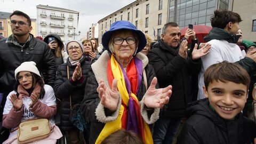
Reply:
[[[189,117],[177,143],[254,143],[256,127],[251,119],[239,113],[234,120],[221,118],[209,107],[209,100],[189,103]]]

